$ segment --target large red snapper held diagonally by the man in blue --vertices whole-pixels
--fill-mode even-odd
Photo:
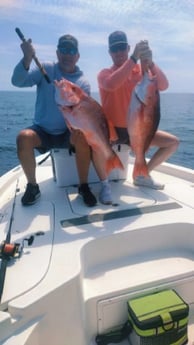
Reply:
[[[70,131],[80,130],[92,150],[101,153],[107,174],[115,168],[123,169],[122,162],[110,145],[108,124],[100,104],[66,79],[55,81],[55,88],[56,103]]]

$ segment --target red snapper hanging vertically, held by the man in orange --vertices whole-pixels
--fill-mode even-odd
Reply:
[[[132,92],[127,115],[130,145],[135,155],[133,178],[148,176],[145,153],[160,122],[160,96],[156,77],[144,72]]]

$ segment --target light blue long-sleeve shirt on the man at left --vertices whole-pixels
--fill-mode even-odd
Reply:
[[[78,66],[76,66],[74,73],[63,73],[58,63],[44,63],[43,67],[51,83],[46,81],[37,67],[26,70],[23,60],[16,65],[11,81],[14,86],[18,87],[32,87],[36,85],[37,92],[33,123],[49,134],[62,134],[67,129],[67,126],[55,102],[55,86],[52,81],[65,78],[79,85],[87,94],[90,94],[90,85]]]

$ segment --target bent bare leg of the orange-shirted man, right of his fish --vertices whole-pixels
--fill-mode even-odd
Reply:
[[[148,171],[166,161],[178,148],[179,139],[167,132],[157,131],[150,146],[157,146],[158,150],[148,163]]]

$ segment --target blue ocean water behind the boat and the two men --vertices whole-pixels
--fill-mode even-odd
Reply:
[[[99,100],[98,94],[92,95]],[[33,119],[35,92],[0,92],[0,175],[19,164],[17,133]],[[161,93],[159,128],[180,139],[176,153],[168,162],[194,169],[194,94]]]

